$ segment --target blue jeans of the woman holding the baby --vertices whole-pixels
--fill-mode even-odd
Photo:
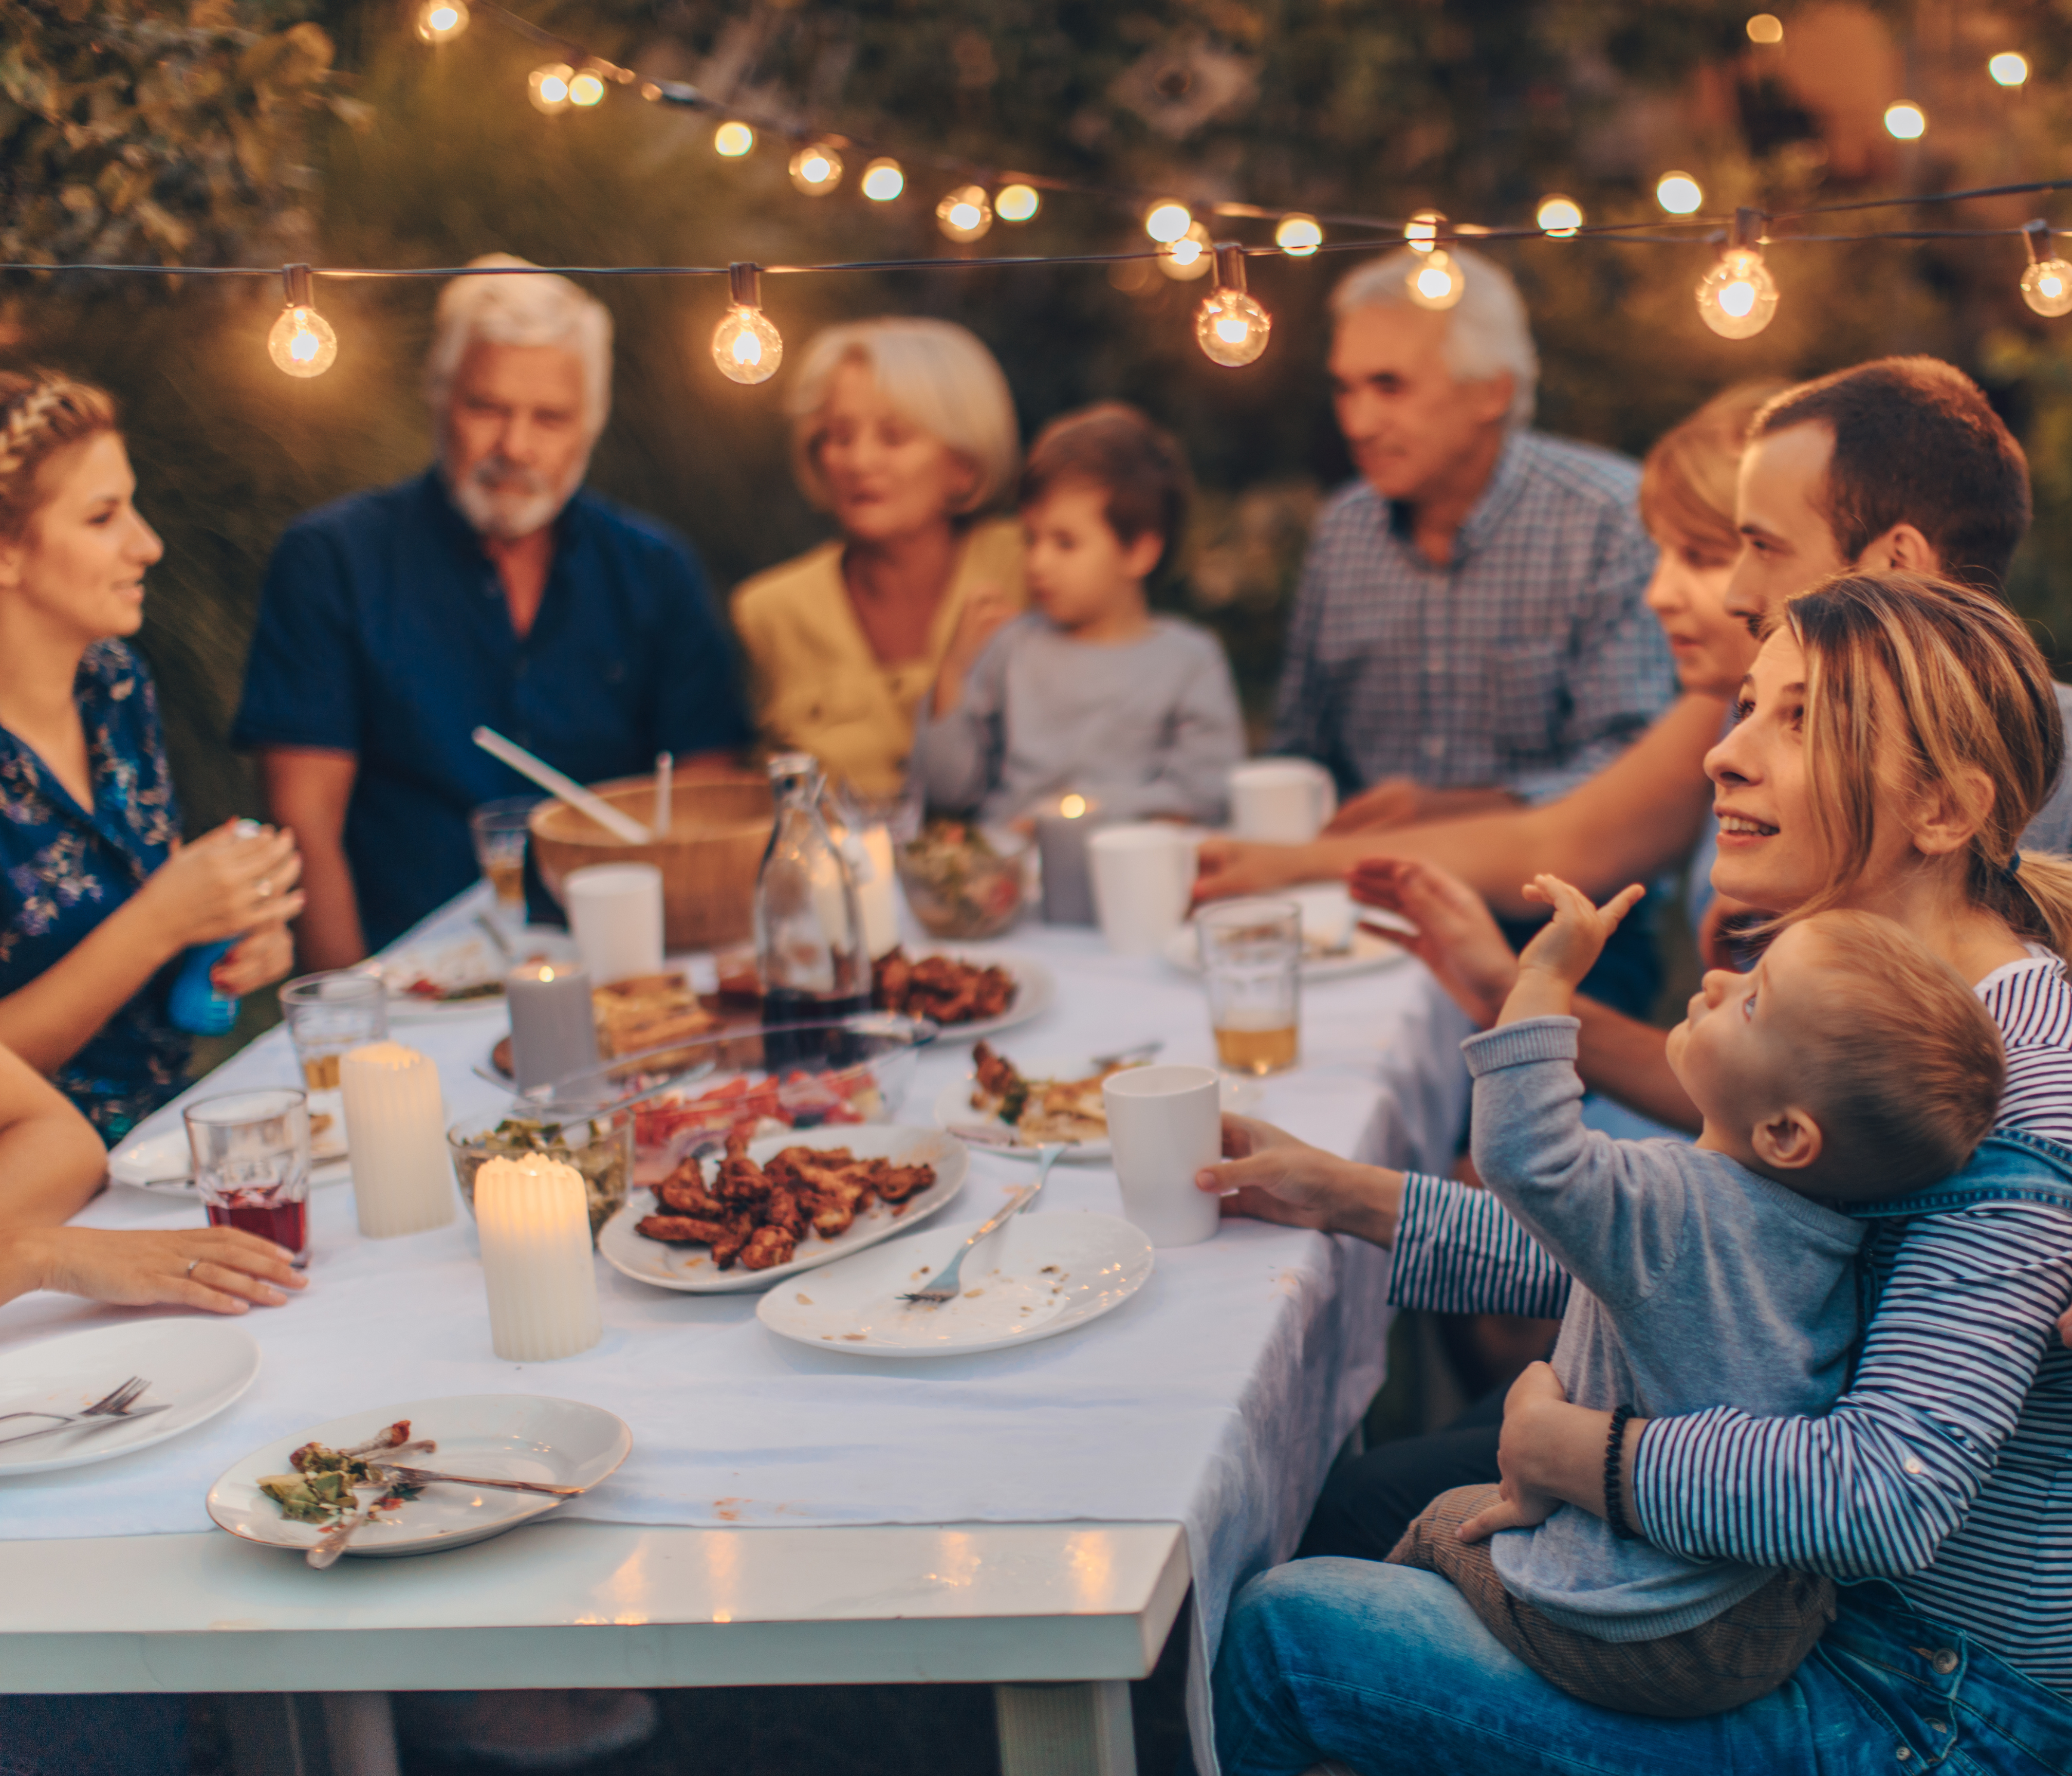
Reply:
[[[1944,1668],[1948,1666],[1948,1668]],[[1653,1720],[1577,1701],[1513,1658],[1436,1573],[1295,1560],[1231,1606],[1216,1658],[1222,1776],[2064,1776],[2072,1703],[1888,1585],[1761,1701]]]

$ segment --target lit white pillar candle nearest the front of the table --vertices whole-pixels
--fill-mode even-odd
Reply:
[[[489,1343],[499,1357],[572,1357],[605,1335],[588,1198],[572,1165],[541,1152],[483,1161],[474,1173],[474,1227],[489,1285]]]

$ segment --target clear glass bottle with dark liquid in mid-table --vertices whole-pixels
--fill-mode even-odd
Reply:
[[[762,1026],[814,1024],[870,1009],[870,951],[856,881],[821,819],[821,767],[810,752],[771,758],[777,825],[756,877],[756,968]],[[767,1038],[769,1065],[835,1059],[839,1042]]]

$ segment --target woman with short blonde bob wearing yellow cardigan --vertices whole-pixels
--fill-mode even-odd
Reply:
[[[841,537],[733,593],[765,734],[866,796],[899,790],[914,711],[1021,609],[1015,404],[949,321],[829,327],[792,385],[794,462]]]

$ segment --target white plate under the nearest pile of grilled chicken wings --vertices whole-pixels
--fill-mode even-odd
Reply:
[[[972,1169],[972,1154],[963,1142],[941,1129],[918,1129],[903,1123],[825,1123],[816,1129],[785,1129],[781,1136],[748,1142],[748,1156],[762,1165],[787,1146],[845,1146],[858,1158],[932,1165],[934,1183],[910,1196],[897,1212],[883,1202],[872,1202],[839,1239],[808,1233],[798,1243],[798,1256],[789,1264],[773,1264],[769,1270],[742,1270],[738,1264],[731,1270],[719,1270],[713,1266],[711,1248],[665,1245],[661,1239],[649,1239],[638,1231],[640,1219],[657,1212],[667,1214],[659,1208],[653,1190],[632,1192],[626,1206],[597,1235],[597,1250],[613,1270],[636,1283],[682,1289],[686,1295],[746,1295],[754,1289],[769,1289],[771,1283],[796,1277],[800,1270],[833,1264],[837,1258],[891,1239],[908,1227],[918,1227],[949,1206],[963,1187],[963,1175]]]

